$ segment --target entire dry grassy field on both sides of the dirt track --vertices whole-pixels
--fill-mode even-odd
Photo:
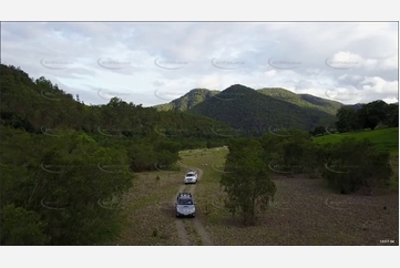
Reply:
[[[183,168],[176,173],[136,174],[134,187],[123,204],[125,219],[120,238],[111,245],[183,245],[177,221],[189,245],[399,245],[399,195],[378,190],[375,196],[339,195],[322,179],[281,177],[271,174],[277,185],[275,203],[258,218],[243,227],[224,208],[219,186],[226,148],[181,152],[181,163],[204,173],[194,194],[196,220],[176,219],[172,197],[183,186]],[[397,167],[398,168],[398,167]],[[160,181],[155,179],[160,176]],[[203,234],[198,226],[204,227]],[[386,243],[386,240],[389,243]]]

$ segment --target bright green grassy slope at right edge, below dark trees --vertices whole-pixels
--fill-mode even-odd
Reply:
[[[388,151],[392,155],[399,155],[399,127],[378,128],[375,131],[363,131],[353,133],[329,134],[315,137],[314,141],[319,144],[337,143],[345,137],[353,137],[356,140],[370,140],[377,148]]]

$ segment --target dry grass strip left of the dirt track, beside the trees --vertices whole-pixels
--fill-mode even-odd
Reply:
[[[160,181],[156,181],[156,176]],[[124,221],[120,246],[180,245],[172,196],[182,185],[183,172],[136,174],[124,200]]]

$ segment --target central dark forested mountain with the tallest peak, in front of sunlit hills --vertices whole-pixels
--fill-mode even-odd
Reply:
[[[317,99],[304,96],[308,100],[306,101],[300,97],[302,103],[309,104],[299,105],[301,102],[294,95],[291,95],[293,101],[287,101],[265,92],[269,93],[235,84],[187,112],[208,116],[227,123],[235,130],[256,135],[290,127],[309,131],[318,125],[332,125],[336,122],[335,115],[315,107],[318,105]],[[284,91],[281,93],[288,94]]]

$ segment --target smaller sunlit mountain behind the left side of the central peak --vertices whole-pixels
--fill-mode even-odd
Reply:
[[[209,97],[213,97],[214,95],[216,95],[218,93],[219,93],[219,91],[209,91],[206,89],[194,89],[194,90],[191,90],[185,95],[183,95],[170,103],[155,105],[154,107],[157,111],[168,111],[172,109],[177,109],[180,111],[186,111],[188,109],[192,109],[196,104],[204,102],[205,100],[208,100]]]

